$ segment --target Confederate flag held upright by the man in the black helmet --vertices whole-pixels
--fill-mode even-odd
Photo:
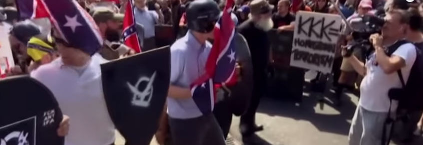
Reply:
[[[213,111],[216,101],[216,89],[234,85],[235,74],[235,24],[231,19],[234,0],[226,0],[222,17],[214,28],[214,42],[206,63],[206,73],[191,86],[191,94],[201,113]]]

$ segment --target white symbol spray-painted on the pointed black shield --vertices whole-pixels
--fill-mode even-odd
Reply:
[[[134,94],[134,96],[132,97],[133,105],[140,107],[150,106],[150,101],[153,97],[153,82],[155,78],[156,72],[154,72],[150,78],[145,76],[141,77],[140,79],[138,79],[135,85],[131,85],[129,82],[127,82],[129,89],[131,90],[132,94]],[[138,90],[138,87],[140,86],[141,82],[148,82],[144,91]]]

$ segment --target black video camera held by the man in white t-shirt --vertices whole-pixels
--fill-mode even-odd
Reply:
[[[347,53],[345,56],[351,56],[354,49],[363,49],[366,55],[373,51],[373,45],[371,44],[369,37],[371,34],[380,33],[382,26],[385,23],[383,17],[375,15],[364,15],[351,20],[351,25],[365,25],[364,28],[355,30],[352,32],[354,42],[347,45]]]

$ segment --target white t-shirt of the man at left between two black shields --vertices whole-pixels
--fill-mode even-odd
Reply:
[[[99,57],[80,74],[58,58],[31,73],[52,91],[64,115],[70,117],[65,145],[110,145],[115,127],[104,100]]]

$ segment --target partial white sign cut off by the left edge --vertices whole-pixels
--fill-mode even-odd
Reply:
[[[5,75],[6,69],[15,66],[9,43],[9,32],[4,27],[0,25],[0,77]]]

